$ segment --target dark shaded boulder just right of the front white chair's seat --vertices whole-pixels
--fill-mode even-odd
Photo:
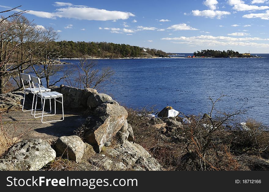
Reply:
[[[82,107],[81,98],[83,89],[76,87],[63,86],[61,94],[63,94],[64,108],[80,108]]]

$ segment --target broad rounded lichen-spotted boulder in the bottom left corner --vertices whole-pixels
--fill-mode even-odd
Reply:
[[[55,157],[56,152],[46,140],[23,140],[0,158],[0,170],[39,170]]]

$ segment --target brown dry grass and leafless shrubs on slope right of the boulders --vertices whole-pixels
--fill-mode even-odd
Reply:
[[[212,119],[205,127],[206,119],[191,116],[191,123],[163,133],[162,128],[150,124],[145,114],[128,109],[128,123],[133,127],[135,142],[142,145],[166,170],[245,170],[237,161],[238,155],[269,157],[268,128],[260,122],[248,119],[249,130],[242,130],[235,118],[226,116]],[[232,125],[232,128],[226,125]],[[166,127],[167,128],[167,127]]]

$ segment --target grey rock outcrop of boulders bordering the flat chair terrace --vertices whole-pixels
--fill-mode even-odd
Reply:
[[[73,170],[162,170],[157,160],[135,143],[132,126],[127,123],[127,111],[109,95],[90,88],[50,88],[63,94],[64,108],[90,108],[91,115],[78,130],[82,131],[79,135],[83,139],[62,136],[53,145],[54,149],[42,139],[20,141],[0,158],[0,170],[39,170],[56,155],[76,161]],[[0,95],[0,106],[2,98],[9,98],[9,102],[20,107],[23,92]]]

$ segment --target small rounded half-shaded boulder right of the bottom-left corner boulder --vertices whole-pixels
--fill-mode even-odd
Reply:
[[[62,136],[54,144],[55,151],[65,158],[79,162],[83,157],[86,145],[78,136]]]

